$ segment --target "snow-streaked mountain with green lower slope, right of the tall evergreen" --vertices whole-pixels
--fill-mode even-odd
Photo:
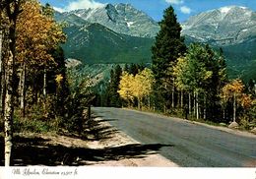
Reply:
[[[248,74],[252,74],[256,60],[256,13],[249,8],[228,6],[193,16],[182,24],[182,34],[187,43],[222,47],[232,78],[248,80]]]

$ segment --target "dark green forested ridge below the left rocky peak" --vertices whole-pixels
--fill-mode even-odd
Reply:
[[[75,14],[55,13],[65,22],[67,41],[62,45],[67,58],[87,64],[148,63],[154,39],[121,34],[90,23]]]

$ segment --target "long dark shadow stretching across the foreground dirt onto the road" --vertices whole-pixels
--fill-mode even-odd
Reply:
[[[142,158],[158,153],[162,147],[170,145],[140,145],[132,144],[115,148],[87,149],[67,148],[62,145],[51,145],[42,138],[15,137],[13,149],[13,165],[90,165],[90,161],[119,160],[123,158]],[[0,138],[1,165],[4,165],[4,139]]]

